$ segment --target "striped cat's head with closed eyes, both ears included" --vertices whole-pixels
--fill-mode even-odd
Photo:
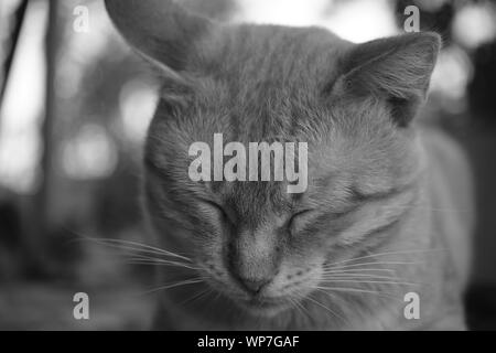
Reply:
[[[163,77],[145,146],[148,215],[214,288],[276,313],[322,286],[330,264],[395,236],[422,169],[411,125],[438,34],[353,44],[320,28],[220,24],[172,1],[106,3]],[[188,147],[212,147],[218,132],[308,142],[308,190],[192,181]]]

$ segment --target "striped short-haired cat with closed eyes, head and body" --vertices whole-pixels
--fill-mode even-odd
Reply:
[[[219,23],[173,1],[106,7],[163,83],[142,188],[166,265],[153,329],[466,329],[470,165],[414,119],[438,34],[354,44],[321,28]],[[192,181],[188,147],[214,133],[308,142],[306,191]]]

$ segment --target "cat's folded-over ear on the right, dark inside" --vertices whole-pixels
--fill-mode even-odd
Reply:
[[[423,103],[441,46],[436,33],[408,33],[354,46],[345,54],[341,94],[384,99],[399,126],[407,126]]]

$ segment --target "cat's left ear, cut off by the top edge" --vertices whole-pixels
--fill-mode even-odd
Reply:
[[[142,56],[173,71],[185,69],[197,55],[195,44],[214,26],[173,0],[105,0],[105,4],[118,31]]]

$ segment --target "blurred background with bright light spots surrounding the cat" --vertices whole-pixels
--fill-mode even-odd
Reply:
[[[353,42],[443,35],[422,118],[463,143],[477,229],[472,329],[496,329],[496,1],[183,0],[223,21],[321,25]],[[101,0],[0,2],[0,330],[127,330],[149,320],[151,268],[91,238],[142,242],[141,147],[158,82]],[[87,292],[91,320],[74,320]],[[136,295],[141,293],[141,295]]]

